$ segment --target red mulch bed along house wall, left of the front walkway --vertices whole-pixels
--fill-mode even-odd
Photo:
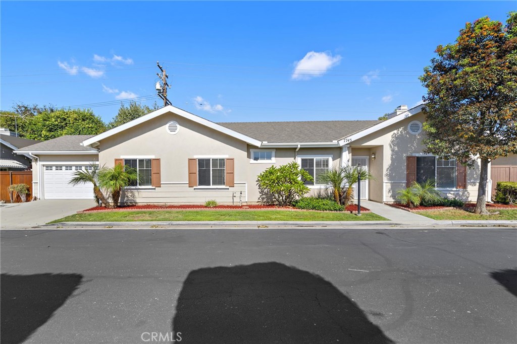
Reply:
[[[191,210],[211,210],[211,209],[269,209],[269,210],[300,210],[305,211],[305,209],[298,209],[294,207],[278,207],[276,205],[262,205],[262,204],[250,204],[250,205],[218,205],[215,207],[205,207],[201,204],[181,204],[181,205],[160,205],[160,204],[142,204],[142,205],[129,205],[129,206],[121,206],[116,209],[105,208],[105,207],[93,207],[88,208],[79,212],[90,212],[90,211],[134,211],[134,210],[169,210],[169,209],[191,209]],[[346,206],[346,211],[357,212],[357,205],[351,204]],[[370,209],[361,207],[361,212],[370,212]]]

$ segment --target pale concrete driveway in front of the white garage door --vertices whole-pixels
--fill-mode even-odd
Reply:
[[[93,200],[39,200],[0,207],[0,228],[30,228],[95,206]]]

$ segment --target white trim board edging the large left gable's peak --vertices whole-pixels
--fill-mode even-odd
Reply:
[[[256,140],[254,138],[251,138],[251,137],[243,135],[243,134],[240,134],[238,132],[235,132],[232,129],[229,129],[229,128],[226,128],[226,127],[224,127],[222,125],[219,125],[217,123],[205,120],[204,118],[196,116],[193,113],[187,112],[185,110],[182,110],[182,109],[177,108],[177,107],[172,106],[172,105],[164,106],[164,107],[162,107],[162,108],[160,108],[160,109],[158,109],[156,111],[153,111],[151,113],[146,114],[145,116],[142,116],[140,118],[137,118],[137,119],[132,120],[130,122],[127,122],[125,124],[119,125],[119,126],[113,128],[113,129],[110,129],[107,132],[104,132],[104,133],[99,134],[99,135],[94,136],[94,137],[90,137],[89,139],[84,140],[82,142],[82,144],[83,144],[83,146],[90,146],[90,145],[94,144],[95,142],[99,142],[99,141],[101,141],[101,140],[103,140],[105,138],[108,138],[110,136],[113,136],[115,134],[123,132],[126,129],[132,128],[132,127],[134,127],[136,125],[139,125],[141,123],[144,123],[146,121],[149,121],[151,119],[154,119],[156,117],[161,116],[162,114],[169,113],[169,112],[177,114],[180,117],[186,118],[186,119],[194,121],[196,123],[202,124],[204,126],[212,128],[214,130],[217,130],[218,132],[221,132],[221,133],[224,133],[226,135],[232,136],[232,137],[234,137],[236,139],[239,139],[241,141],[245,141],[245,142],[247,142],[247,143],[249,143],[251,145],[260,147],[260,145],[262,144],[262,141]]]

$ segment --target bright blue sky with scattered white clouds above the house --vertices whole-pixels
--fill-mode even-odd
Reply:
[[[1,108],[152,104],[216,122],[376,119],[416,105],[438,44],[515,2],[2,2]],[[21,14],[23,13],[23,14]],[[83,106],[88,107],[88,106]]]

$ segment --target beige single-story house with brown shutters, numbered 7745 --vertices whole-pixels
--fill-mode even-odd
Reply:
[[[479,165],[467,170],[424,154],[421,108],[399,106],[385,121],[214,123],[166,106],[96,136],[64,136],[17,153],[35,156],[34,193],[41,199],[92,198],[91,186],[68,181],[96,161],[138,171],[123,202],[255,203],[257,175],[295,160],[314,177],[307,183],[312,193],[326,187],[325,170],[360,163],[375,177],[361,182],[364,199],[393,202],[408,183],[433,178],[444,195],[475,201]],[[487,189],[490,200],[490,182]]]

